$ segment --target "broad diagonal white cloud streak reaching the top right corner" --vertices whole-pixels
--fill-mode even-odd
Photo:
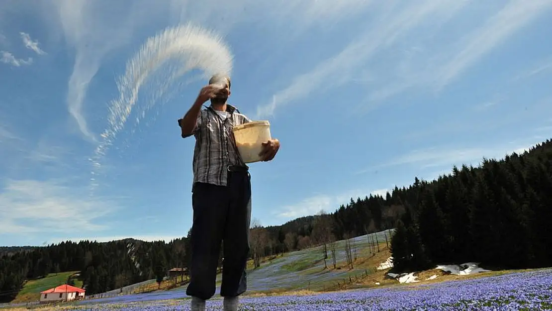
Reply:
[[[408,70],[397,67],[392,79],[380,81],[368,100],[375,104],[412,88],[439,92],[551,7],[551,0],[509,1],[452,44],[429,46],[428,52],[405,60]]]

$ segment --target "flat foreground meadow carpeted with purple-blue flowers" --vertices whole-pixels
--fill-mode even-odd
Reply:
[[[222,301],[220,298],[211,299],[207,307],[208,310],[222,310]],[[75,308],[96,311],[189,310],[189,299],[89,303]],[[240,310],[552,310],[552,270],[308,296],[243,297]]]

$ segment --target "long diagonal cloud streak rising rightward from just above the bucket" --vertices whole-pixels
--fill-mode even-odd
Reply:
[[[463,1],[424,1],[397,6],[401,8],[399,12],[382,14],[368,31],[362,30],[362,34],[339,54],[296,76],[288,87],[274,94],[272,102],[257,107],[257,118],[272,115],[277,107],[296,102],[321,85],[325,89],[344,85],[377,51],[388,48],[428,19],[432,22],[448,19],[463,6]]]

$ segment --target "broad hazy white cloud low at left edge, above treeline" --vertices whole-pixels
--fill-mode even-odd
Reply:
[[[55,180],[8,180],[0,190],[0,234],[106,229],[96,220],[114,212],[118,204],[83,194]]]

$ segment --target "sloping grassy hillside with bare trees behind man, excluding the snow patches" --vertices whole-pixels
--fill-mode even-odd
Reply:
[[[334,244],[336,267],[333,266],[333,253],[328,251],[327,268],[323,261],[323,246],[292,251],[286,254],[267,257],[260,267],[248,266],[247,294],[266,294],[289,291],[332,291],[344,286],[362,283],[363,280],[377,278],[382,284],[398,283],[384,280],[384,271],[377,267],[389,258],[389,241],[392,230],[376,234],[362,235]],[[379,241],[379,246],[376,244]],[[351,246],[351,268],[347,260],[347,245]],[[379,251],[378,251],[379,249]],[[350,277],[350,278],[349,278]],[[220,292],[221,275],[217,275],[216,294]],[[373,284],[371,284],[373,285]],[[126,296],[98,298],[81,303],[158,301],[163,299],[181,299],[187,297],[187,285],[169,289]]]

